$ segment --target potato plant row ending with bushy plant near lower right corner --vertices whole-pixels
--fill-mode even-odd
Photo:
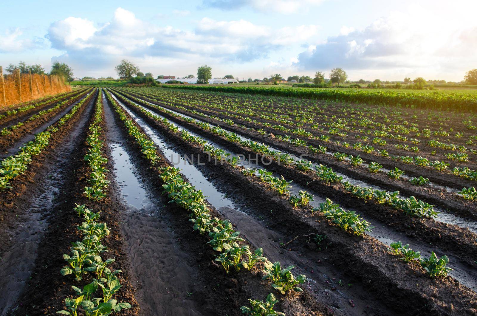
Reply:
[[[124,101],[128,102],[128,100],[124,100]],[[156,116],[152,114],[151,112],[145,110],[144,108],[134,105],[131,102],[128,102],[128,104],[131,106],[134,106],[136,109],[140,110],[146,116],[149,116],[155,119],[156,121],[160,121],[164,123],[166,126],[168,126],[170,130],[174,132],[178,131],[178,127],[170,123],[166,118],[161,118],[159,116]],[[171,111],[165,110],[165,112],[167,112],[168,114],[177,116],[175,113]],[[205,122],[197,122],[196,120],[183,117],[183,116],[179,116],[179,117],[181,117],[182,119],[186,120],[189,123],[195,122],[199,126],[203,127],[205,130],[210,131],[213,129],[215,130],[220,129],[218,126],[211,126],[210,124]],[[223,159],[224,161],[227,161],[228,163],[230,163],[233,167],[237,168],[237,161],[231,158],[228,158],[228,156],[230,156],[230,153],[226,153],[222,149],[215,148],[209,144],[206,144],[207,142],[205,140],[203,140],[200,137],[193,136],[185,130],[181,131],[181,137],[190,143],[196,143],[198,145],[203,146],[204,152],[218,159]],[[246,176],[257,177],[262,182],[267,183],[270,186],[270,189],[276,190],[280,195],[289,196],[290,204],[292,204],[295,207],[307,206],[309,205],[310,201],[314,200],[313,195],[311,195],[307,191],[300,190],[298,196],[291,195],[290,190],[288,189],[291,187],[290,183],[292,181],[285,180],[283,176],[281,176],[281,179],[278,177],[274,177],[272,175],[272,172],[267,171],[266,169],[253,170],[249,168],[244,168],[241,170],[241,172]],[[312,212],[313,211],[321,211],[324,217],[331,220],[332,223],[340,226],[345,231],[350,230],[351,232],[353,232],[353,234],[358,236],[363,235],[365,232],[370,232],[371,229],[373,228],[372,226],[370,226],[369,222],[363,220],[359,214],[356,214],[354,211],[346,211],[340,208],[339,204],[333,203],[332,200],[330,200],[329,198],[326,198],[325,202],[320,203],[319,208],[313,208]],[[399,242],[391,243],[390,251],[394,249],[395,245],[398,243]],[[401,250],[403,253],[407,253],[407,254],[412,253],[412,250],[409,249],[409,245],[404,245],[403,249],[398,249],[398,250],[394,249],[393,253],[400,254]],[[438,259],[436,257],[436,254],[432,253],[432,255],[429,258],[421,258],[418,255],[416,255],[414,258],[420,259],[421,266],[425,269],[426,273],[430,277],[445,276],[448,271],[452,270],[451,268],[446,267],[446,264],[449,262],[449,259],[447,256],[442,256],[440,259]],[[409,262],[409,261],[410,260],[406,260],[406,262]]]

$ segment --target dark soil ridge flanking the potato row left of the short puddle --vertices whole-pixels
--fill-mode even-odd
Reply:
[[[92,111],[88,115],[92,117]],[[20,306],[16,313],[19,315],[50,315],[64,309],[64,298],[73,297],[74,291],[71,285],[82,287],[91,282],[91,279],[79,282],[73,281],[73,277],[62,276],[60,269],[65,265],[63,253],[69,253],[71,242],[81,240],[81,234],[76,226],[81,224],[81,218],[73,211],[75,204],[86,204],[92,211],[101,211],[101,221],[107,224],[110,235],[103,239],[102,243],[108,247],[106,258],[116,261],[111,264],[111,269],[121,269],[123,272],[119,278],[123,285],[115,295],[119,302],[128,302],[133,308],[122,312],[122,315],[138,315],[139,306],[134,297],[134,289],[130,282],[131,267],[128,256],[125,253],[126,245],[121,234],[121,218],[124,213],[122,201],[114,195],[110,187],[108,197],[100,202],[92,202],[83,196],[84,187],[87,185],[87,177],[91,169],[87,166],[83,157],[87,153],[85,138],[89,130],[84,126],[83,132],[78,137],[78,143],[73,155],[69,158],[71,163],[65,177],[64,187],[57,197],[52,213],[56,214],[49,222],[48,233],[40,243],[36,268],[32,273],[29,287],[20,299]],[[111,168],[108,162],[107,167]],[[111,176],[109,176],[109,180]],[[113,193],[113,194],[112,194]],[[104,258],[104,259],[106,259]]]

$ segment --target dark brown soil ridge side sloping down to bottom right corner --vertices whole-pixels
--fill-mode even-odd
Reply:
[[[139,111],[131,109],[141,116]],[[178,134],[169,132],[165,126],[147,116],[141,117],[176,146],[184,148],[188,153],[201,155],[200,147],[186,143]],[[200,161],[207,161],[207,158],[203,157]],[[408,315],[448,315],[454,311],[465,313],[474,307],[476,293],[452,278],[446,277],[438,281],[427,278],[417,264],[405,264],[397,260],[382,243],[368,236],[353,236],[330,225],[321,216],[311,216],[309,210],[291,207],[288,200],[268,190],[262,183],[245,178],[239,169],[212,163],[206,163],[204,168],[208,168],[211,175],[220,175],[221,185],[235,188],[234,194],[240,193],[247,201],[253,201],[254,206],[259,206],[254,207],[256,215],[266,218],[269,227],[284,232],[290,239],[297,232],[303,235],[311,232],[325,233],[333,245],[323,255],[327,262],[346,271],[357,282],[369,284],[368,290],[376,295],[376,299],[393,306],[396,312]],[[270,209],[280,211],[270,213]],[[293,248],[306,253],[304,243],[304,238],[299,239],[293,243]],[[455,297],[467,298],[456,300]],[[453,311],[450,311],[451,303],[455,308]],[[414,306],[411,312],[408,306]]]

